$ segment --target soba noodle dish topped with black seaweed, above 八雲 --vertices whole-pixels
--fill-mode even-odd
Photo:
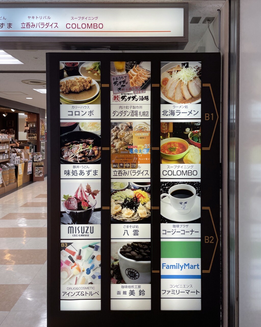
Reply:
[[[150,194],[141,189],[124,189],[111,195],[111,217],[138,222],[150,217]]]

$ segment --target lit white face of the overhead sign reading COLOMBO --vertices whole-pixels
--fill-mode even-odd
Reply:
[[[185,38],[185,9],[4,8],[0,37]]]

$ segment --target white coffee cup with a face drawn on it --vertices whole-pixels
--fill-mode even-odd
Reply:
[[[175,198],[171,195],[173,191],[176,190],[189,190],[193,193],[193,195],[189,198]],[[162,198],[165,197],[165,198]],[[193,186],[189,184],[177,184],[172,186],[169,189],[169,193],[161,194],[161,201],[167,204],[170,204],[178,214],[186,215],[191,211],[196,199],[196,190]]]

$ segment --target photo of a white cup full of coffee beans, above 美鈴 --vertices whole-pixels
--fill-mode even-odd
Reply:
[[[151,242],[111,242],[111,284],[150,284]]]

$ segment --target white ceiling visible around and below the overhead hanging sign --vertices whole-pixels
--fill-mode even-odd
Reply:
[[[88,3],[121,3],[122,0],[118,1],[107,1],[107,0],[88,0]],[[218,15],[218,9],[221,9],[226,0],[125,0],[125,3],[174,3],[174,2],[186,2],[189,3],[189,22],[192,17],[202,17],[199,24],[189,24],[189,42],[185,49],[182,51],[173,50],[171,52],[191,52],[195,45],[200,41],[202,36],[207,30],[207,24],[202,24],[205,17],[216,17]],[[10,0],[0,0],[0,4],[10,4]],[[16,0],[12,3],[86,3],[86,0],[48,0],[48,1],[34,1],[34,0]],[[2,49],[5,50],[5,49]],[[40,79],[46,80],[45,76],[45,54],[46,52],[68,52],[67,50],[38,50],[38,51],[28,51],[28,50],[5,50],[11,54],[16,59],[23,62],[23,65],[0,65],[0,97],[5,99],[10,99],[18,102],[22,102],[28,105],[33,105],[36,107],[46,109],[46,95],[40,94],[33,90],[33,88],[46,88],[43,86],[33,86],[23,84],[21,80],[23,79]],[[92,51],[73,51],[73,52],[96,52]],[[107,50],[101,52],[108,52]],[[120,51],[115,51],[120,52]],[[126,51],[127,52],[127,51]],[[135,51],[131,51],[135,52]],[[139,51],[136,51],[139,52]],[[146,52],[146,51],[144,51]],[[148,51],[151,52],[151,51]],[[157,52],[164,52],[157,51]],[[8,71],[8,73],[5,73]],[[20,72],[21,71],[21,72]],[[12,73],[13,72],[13,73]],[[26,95],[6,95],[2,92],[22,92]],[[32,100],[25,99],[26,97],[32,97]],[[0,103],[1,105],[1,103]]]

